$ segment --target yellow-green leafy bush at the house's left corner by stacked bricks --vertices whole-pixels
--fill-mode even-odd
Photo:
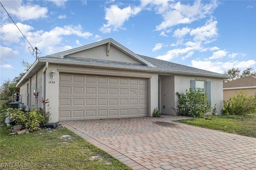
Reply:
[[[24,112],[21,109],[8,109],[9,118],[15,120],[16,125],[22,128],[37,130],[40,127],[43,116],[36,111]]]

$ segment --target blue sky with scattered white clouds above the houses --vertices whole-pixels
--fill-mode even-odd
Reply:
[[[1,0],[42,56],[112,38],[134,53],[224,73],[256,71],[256,1]],[[36,58],[1,6],[1,84]],[[30,48],[31,49],[31,48]]]

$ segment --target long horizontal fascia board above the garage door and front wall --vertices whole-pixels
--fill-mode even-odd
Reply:
[[[86,63],[80,61],[63,61],[60,59],[47,59],[47,58],[39,58],[39,61],[46,62],[48,61],[49,64],[65,64],[65,65],[80,65],[80,66],[89,66],[89,67],[100,67],[100,68],[107,68],[107,69],[123,69],[123,70],[136,70],[136,71],[146,71],[146,72],[153,72],[153,73],[171,73],[171,74],[178,74],[178,75],[193,75],[193,76],[206,76],[206,77],[216,77],[216,78],[228,78],[225,75],[211,75],[211,74],[204,74],[204,73],[191,73],[185,71],[171,71],[171,70],[162,70],[157,68],[143,68],[143,67],[133,67],[133,66],[123,66],[123,65],[108,65],[108,64],[99,64],[99,63]]]

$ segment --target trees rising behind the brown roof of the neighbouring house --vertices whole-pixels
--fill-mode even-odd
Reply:
[[[230,75],[230,76],[232,76],[232,78],[231,79],[224,79],[224,82],[231,81],[231,80],[234,80],[234,79],[238,79],[238,78],[241,78],[241,77],[245,77],[247,75],[256,75],[256,71],[253,71],[253,70],[254,69],[252,67],[247,67],[241,73],[241,70],[238,69],[238,68],[235,69],[233,67],[231,69],[228,69],[228,71],[224,71],[224,75]]]

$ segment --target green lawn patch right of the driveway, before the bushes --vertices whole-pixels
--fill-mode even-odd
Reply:
[[[209,118],[210,120],[194,118],[175,122],[256,138],[256,115],[218,115]]]

